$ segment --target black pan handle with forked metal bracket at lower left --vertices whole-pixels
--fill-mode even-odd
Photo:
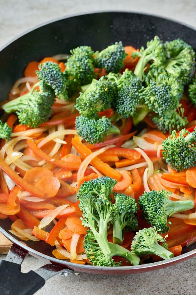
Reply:
[[[48,278],[62,271],[73,273],[54,264],[46,264],[36,271],[21,273],[21,263],[27,252],[16,244],[9,250],[6,260],[0,262],[0,294],[32,295],[41,289]]]

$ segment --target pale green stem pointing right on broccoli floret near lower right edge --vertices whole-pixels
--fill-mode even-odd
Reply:
[[[192,201],[171,201],[169,200],[168,203],[164,207],[165,214],[167,216],[171,216],[176,212],[182,212],[186,210],[190,210],[195,207],[195,204]]]

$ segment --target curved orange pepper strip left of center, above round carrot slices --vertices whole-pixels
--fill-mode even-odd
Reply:
[[[49,163],[51,163],[51,164],[53,164],[55,166],[58,166],[58,167],[61,167],[61,168],[64,168],[64,169],[68,169],[68,170],[78,170],[79,167],[80,167],[81,162],[79,164],[79,160],[78,160],[79,157],[76,156],[76,155],[73,155],[73,156],[76,156],[77,157],[77,162],[76,163],[72,161],[73,159],[71,160],[71,162],[69,162],[68,161],[69,158],[68,158],[68,160],[66,160],[66,158],[64,158],[64,160],[58,160],[58,159],[55,159],[55,158],[47,155],[41,149],[39,149],[32,139],[27,140],[27,144],[28,144],[29,148],[36,155],[38,155],[39,157],[41,157],[46,162],[49,162]]]

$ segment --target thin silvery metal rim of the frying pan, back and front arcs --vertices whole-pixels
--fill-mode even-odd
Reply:
[[[100,14],[100,13],[127,13],[127,14],[138,14],[138,15],[141,15],[141,16],[151,16],[151,17],[157,17],[159,19],[165,19],[165,20],[168,20],[170,22],[174,22],[174,23],[177,23],[177,24],[181,24],[182,26],[185,26],[185,27],[188,27],[192,30],[195,30],[196,31],[196,27],[193,27],[189,24],[186,24],[184,22],[180,22],[180,21],[177,21],[177,20],[174,20],[172,18],[168,18],[168,17],[163,17],[163,16],[160,16],[160,15],[157,15],[157,14],[150,14],[150,13],[141,13],[141,12],[138,12],[138,11],[123,11],[123,10],[98,10],[98,11],[89,11],[89,12],[83,12],[83,13],[78,13],[78,14],[69,14],[69,15],[66,15],[66,16],[63,16],[63,17],[58,17],[58,18],[55,18],[55,19],[52,19],[52,20],[49,20],[47,22],[43,22],[33,28],[30,28],[29,30],[26,30],[25,32],[22,32],[21,34],[19,34],[18,36],[14,37],[13,39],[11,39],[9,42],[7,42],[6,44],[4,44],[2,47],[0,47],[0,54],[1,54],[1,51],[4,50],[6,47],[8,47],[9,45],[11,45],[11,43],[13,43],[14,41],[18,40],[19,38],[23,37],[24,35],[40,28],[40,27],[43,27],[45,25],[48,25],[48,24],[51,24],[53,22],[57,22],[57,21],[60,21],[60,20],[63,20],[63,19],[68,19],[68,18],[72,18],[72,17],[76,17],[76,16],[84,16],[84,15],[88,15],[88,14]],[[92,270],[95,270],[95,271],[100,271],[100,270],[103,270],[103,271],[107,271],[108,274],[110,274],[110,272],[112,273],[114,270],[115,271],[132,271],[132,270],[143,270],[143,271],[153,271],[155,270],[156,268],[160,267],[160,268],[164,268],[164,267],[167,267],[167,266],[171,266],[172,264],[174,263],[179,263],[179,262],[182,262],[183,260],[186,260],[186,259],[189,259],[189,258],[192,258],[194,256],[196,256],[196,248],[194,250],[191,250],[187,253],[184,253],[180,256],[177,256],[177,257],[174,257],[174,258],[170,258],[169,260],[162,260],[162,261],[159,261],[159,262],[153,262],[153,263],[148,263],[148,264],[143,264],[143,265],[138,265],[138,266],[118,266],[118,267],[101,267],[101,266],[91,266],[91,265],[78,265],[77,263],[72,263],[72,262],[69,262],[69,261],[66,261],[66,260],[60,260],[60,259],[57,259],[57,258],[53,258],[51,256],[48,256],[46,254],[43,254],[43,253],[40,253],[32,248],[30,248],[29,246],[27,246],[25,243],[23,242],[20,242],[18,241],[17,239],[15,239],[14,237],[12,237],[8,232],[6,232],[2,227],[0,227],[0,232],[2,234],[4,234],[9,240],[11,240],[11,242],[15,243],[16,245],[19,245],[21,248],[23,248],[24,250],[26,250],[27,252],[29,252],[30,254],[36,256],[36,257],[40,257],[42,259],[45,259],[45,260],[49,260],[50,262],[52,263],[56,263],[56,264],[61,264],[65,267],[70,267],[71,269],[83,269],[85,271],[86,270],[89,270],[89,269],[92,269]]]

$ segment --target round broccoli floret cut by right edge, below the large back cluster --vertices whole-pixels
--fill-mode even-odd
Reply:
[[[163,158],[172,169],[183,171],[195,166],[196,132],[182,129],[179,136],[175,130],[163,141]]]

